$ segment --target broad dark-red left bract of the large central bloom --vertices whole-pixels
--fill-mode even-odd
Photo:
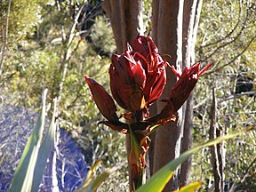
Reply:
[[[140,62],[132,57],[132,47],[121,54],[113,54],[109,68],[110,88],[116,102],[124,109],[144,108],[143,88],[146,75]]]

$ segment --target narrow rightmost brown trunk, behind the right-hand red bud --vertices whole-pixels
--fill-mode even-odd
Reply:
[[[190,67],[191,64],[195,62],[192,60],[192,53],[195,52],[193,48],[193,33],[194,31],[194,22],[196,15],[196,4],[197,0],[189,0],[184,2],[184,11],[183,11],[183,31],[182,31],[182,59],[183,59],[183,68]],[[193,95],[191,94],[183,105],[183,116],[182,119],[182,142],[181,142],[181,152],[187,151],[191,147],[192,142],[192,126],[193,126]],[[188,157],[188,160],[181,164],[180,167],[180,187],[188,184],[188,179],[190,176],[191,169],[191,156]]]

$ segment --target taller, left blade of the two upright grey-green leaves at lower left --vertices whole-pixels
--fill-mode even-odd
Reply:
[[[45,89],[43,93],[42,112],[39,115],[36,122],[36,127],[28,138],[27,144],[23,150],[20,162],[12,179],[11,188],[9,190],[10,192],[31,191],[36,158],[38,155],[41,140],[43,138],[46,94],[47,89]]]

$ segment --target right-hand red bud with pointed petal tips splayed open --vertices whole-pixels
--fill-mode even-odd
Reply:
[[[208,64],[202,70],[199,71],[200,61],[196,62],[191,68],[184,68],[182,74],[172,67],[173,73],[179,77],[179,80],[172,87],[170,100],[174,106],[174,110],[177,111],[183,103],[188,99],[188,96],[196,86],[196,82],[199,76],[201,76],[205,70],[210,68],[213,63]]]

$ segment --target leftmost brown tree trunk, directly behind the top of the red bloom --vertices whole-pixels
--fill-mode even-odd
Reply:
[[[127,43],[132,44],[133,39],[140,34],[142,28],[142,1],[141,0],[105,0],[102,4],[108,15],[113,29],[118,53],[126,50]],[[128,157],[130,191],[132,186],[132,172],[130,169],[130,135],[126,137]]]

